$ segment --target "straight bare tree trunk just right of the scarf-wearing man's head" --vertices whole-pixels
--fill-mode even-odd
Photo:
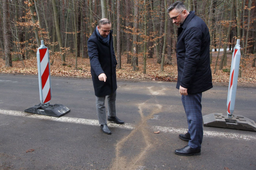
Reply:
[[[116,35],[116,41],[117,41],[117,68],[121,68],[121,49],[120,49],[120,0],[117,0],[117,35]]]

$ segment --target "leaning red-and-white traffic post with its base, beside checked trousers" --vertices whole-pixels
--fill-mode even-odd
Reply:
[[[235,108],[240,58],[240,40],[237,40],[232,55],[230,68],[227,97],[227,116],[223,116],[223,114],[221,113],[212,113],[209,115],[205,115],[203,116],[204,126],[256,131],[256,123],[253,120],[248,119],[242,115],[233,115]]]

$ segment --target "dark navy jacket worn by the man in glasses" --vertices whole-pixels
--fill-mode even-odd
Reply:
[[[210,34],[205,22],[191,11],[178,28],[177,67],[180,85],[188,94],[201,93],[212,88],[210,67]]]

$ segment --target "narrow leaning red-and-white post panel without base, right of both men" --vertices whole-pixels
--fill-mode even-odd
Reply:
[[[232,118],[235,100],[236,100],[236,87],[237,79],[240,65],[240,40],[237,40],[235,50],[232,55],[231,68],[230,68],[230,77],[229,77],[229,86],[228,86],[228,99],[227,99],[227,117]]]

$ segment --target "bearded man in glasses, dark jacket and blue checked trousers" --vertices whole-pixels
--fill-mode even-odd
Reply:
[[[202,92],[212,88],[210,67],[210,34],[204,21],[188,12],[184,4],[176,1],[167,9],[170,19],[178,26],[176,47],[178,82],[176,88],[186,112],[188,132],[179,137],[188,145],[176,149],[183,156],[200,155],[203,139]]]

